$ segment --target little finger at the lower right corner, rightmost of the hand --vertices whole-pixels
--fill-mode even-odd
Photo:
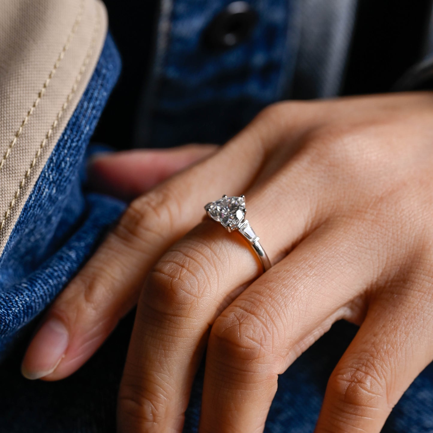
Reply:
[[[420,296],[432,282],[397,282],[373,301],[328,381],[315,433],[382,430],[404,391],[433,359],[432,299]]]

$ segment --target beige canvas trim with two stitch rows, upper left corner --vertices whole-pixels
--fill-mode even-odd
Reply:
[[[0,2],[0,252],[107,33],[99,0]]]

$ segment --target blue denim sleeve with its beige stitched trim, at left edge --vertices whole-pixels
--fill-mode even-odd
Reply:
[[[99,0],[0,2],[0,358],[123,210],[84,191],[119,72]]]

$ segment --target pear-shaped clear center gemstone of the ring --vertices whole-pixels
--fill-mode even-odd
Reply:
[[[205,209],[224,227],[236,228],[245,220],[245,197],[223,197],[208,203]]]

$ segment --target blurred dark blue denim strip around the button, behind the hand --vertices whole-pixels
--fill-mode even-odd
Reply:
[[[140,145],[223,143],[283,98],[297,54],[298,1],[251,0],[260,16],[252,36],[215,52],[203,32],[229,3],[162,1],[153,75],[137,124]]]

